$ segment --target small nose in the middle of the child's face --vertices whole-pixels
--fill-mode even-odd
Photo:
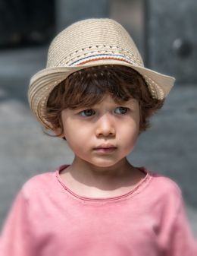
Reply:
[[[102,115],[97,121],[95,134],[97,137],[114,137],[116,129],[113,119],[108,115]]]

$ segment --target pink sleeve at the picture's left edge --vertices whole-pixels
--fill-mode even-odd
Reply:
[[[33,255],[28,220],[28,201],[21,190],[5,220],[0,238],[0,256]]]

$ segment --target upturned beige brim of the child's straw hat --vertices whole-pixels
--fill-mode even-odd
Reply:
[[[124,65],[136,70],[144,77],[146,84],[152,93],[153,98],[163,100],[174,86],[175,78],[170,77],[149,68],[140,67],[124,61],[116,60],[97,60],[77,66],[64,66],[55,68],[45,68],[37,72],[30,80],[28,98],[33,113],[46,128],[52,128],[43,117],[43,109],[46,106],[48,96],[61,81],[66,79],[70,74],[84,68],[97,65]]]

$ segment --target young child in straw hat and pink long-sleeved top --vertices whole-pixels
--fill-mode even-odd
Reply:
[[[197,255],[180,188],[126,158],[173,85],[144,68],[116,21],[79,21],[58,34],[29,101],[74,160],[23,185],[1,255]]]

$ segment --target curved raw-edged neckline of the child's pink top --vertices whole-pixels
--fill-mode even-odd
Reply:
[[[109,197],[109,198],[89,198],[85,196],[81,196],[79,194],[76,194],[75,192],[71,191],[70,188],[67,188],[67,185],[64,184],[63,180],[61,179],[60,172],[67,168],[69,165],[64,165],[60,166],[56,171],[55,171],[55,176],[58,179],[59,184],[61,185],[62,188],[64,188],[64,191],[67,192],[68,195],[70,195],[72,198],[78,199],[79,201],[82,201],[83,203],[91,203],[91,202],[110,202],[110,201],[121,201],[127,198],[131,198],[136,194],[139,194],[140,191],[143,190],[143,188],[148,185],[148,183],[152,179],[152,175],[150,175],[150,172],[145,169],[145,167],[137,167],[141,172],[144,172],[146,175],[143,179],[141,179],[136,186],[126,194],[120,194],[119,196],[114,196],[114,197]]]

